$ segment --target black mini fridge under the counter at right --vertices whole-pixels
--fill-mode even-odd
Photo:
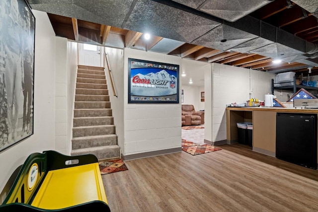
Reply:
[[[276,157],[317,169],[317,114],[277,113]]]

